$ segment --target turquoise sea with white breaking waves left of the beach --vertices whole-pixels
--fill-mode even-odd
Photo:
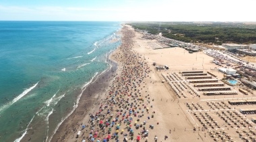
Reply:
[[[119,22],[0,21],[0,141],[20,141],[31,127],[49,141],[77,96],[109,67],[120,28]]]

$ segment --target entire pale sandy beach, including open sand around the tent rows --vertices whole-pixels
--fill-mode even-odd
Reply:
[[[212,64],[214,58],[203,52],[189,54],[183,48],[153,50],[147,44],[149,40],[141,38],[141,33],[129,25],[123,25],[121,33],[122,44],[109,57],[117,62],[117,69],[114,65],[92,83],[88,87],[90,89],[86,89],[79,106],[59,127],[52,141],[243,139],[236,133],[241,126],[226,125],[220,119],[222,115],[218,115],[229,113],[231,116],[238,112],[238,108],[228,105],[228,100],[234,99],[234,95],[205,96],[202,92],[196,94],[183,90],[183,96],[178,96],[163,77],[173,74],[176,76],[174,79],[182,81],[185,78],[179,77],[182,75],[179,74],[181,70],[203,70],[215,74],[214,78],[222,78],[223,74],[215,70],[218,66]],[[152,65],[154,62],[167,65],[170,69],[156,70]],[[167,82],[163,83],[163,80]],[[241,97],[244,97],[241,93],[235,96],[237,99]],[[197,106],[191,108],[191,104]],[[198,106],[201,110],[197,109]],[[212,127],[204,127],[205,123],[201,122],[198,115],[207,117],[205,123]],[[243,124],[243,129],[250,130],[250,127],[255,125]],[[228,133],[224,133],[224,130]],[[217,133],[222,135],[217,138]]]

